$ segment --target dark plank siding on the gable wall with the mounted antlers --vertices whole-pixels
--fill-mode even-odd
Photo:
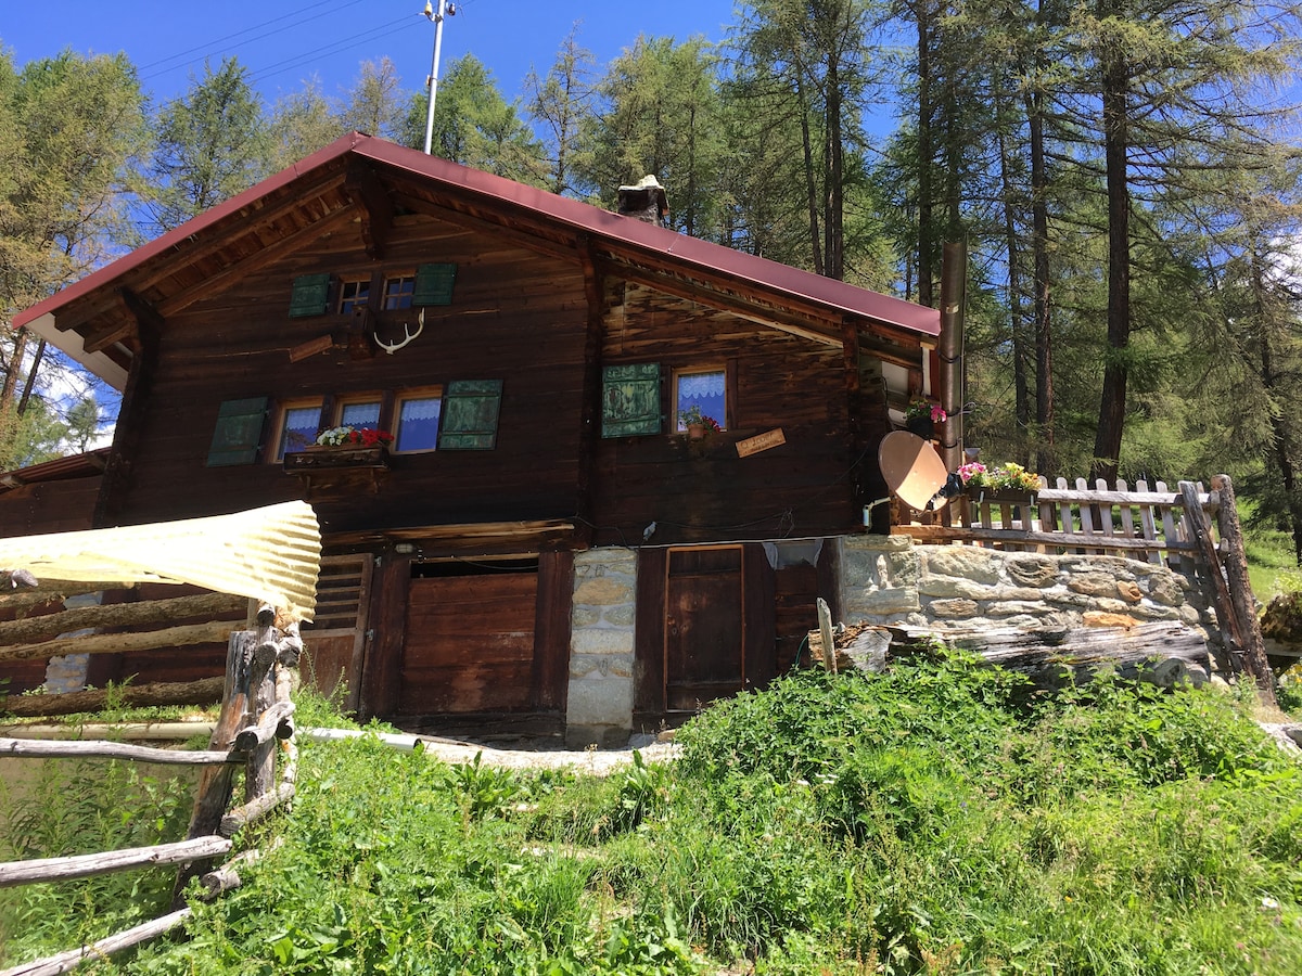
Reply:
[[[206,514],[230,498],[253,506],[301,496],[302,483],[276,463],[204,467],[224,400],[383,393],[454,379],[504,380],[496,449],[397,454],[376,493],[312,497],[323,532],[574,514],[586,327],[581,267],[432,217],[398,223],[404,236],[381,263],[366,258],[359,237],[333,234],[169,320],[121,521]],[[454,299],[427,311],[424,332],[409,346],[393,355],[353,359],[336,350],[289,362],[292,347],[352,325],[350,316],[335,314],[290,319],[297,275],[411,273],[423,262],[457,264]],[[414,331],[414,320],[410,310],[384,312],[378,328],[381,337],[401,338],[404,321]]]

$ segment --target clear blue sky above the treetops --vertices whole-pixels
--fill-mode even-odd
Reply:
[[[339,96],[358,65],[388,56],[409,91],[422,90],[434,52],[424,0],[5,0],[0,44],[22,64],[72,48],[126,55],[156,100],[181,94],[204,57],[236,55],[268,103],[315,75]],[[648,4],[546,4],[465,0],[443,31],[440,75],[473,53],[506,99],[522,92],[530,66],[547,72],[575,21],[579,43],[604,65],[638,34],[723,40],[733,0],[659,0]]]

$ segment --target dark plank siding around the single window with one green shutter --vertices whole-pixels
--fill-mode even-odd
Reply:
[[[615,282],[607,301],[603,363],[661,364],[664,426],[656,436],[598,444],[596,544],[641,539],[651,522],[656,543],[831,535],[857,526],[838,346],[647,288]],[[711,366],[736,375],[730,424],[690,445],[676,432],[672,371]],[[777,427],[784,445],[737,457],[737,441]]]

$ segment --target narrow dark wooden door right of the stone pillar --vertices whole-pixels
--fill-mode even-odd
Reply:
[[[742,547],[671,549],[665,569],[664,703],[695,711],[746,687]]]

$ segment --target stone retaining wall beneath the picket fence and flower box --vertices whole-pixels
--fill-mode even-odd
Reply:
[[[1042,556],[907,536],[842,536],[837,579],[845,622],[963,627],[1079,627],[1086,613],[1200,626],[1219,643],[1197,580],[1113,556]]]

